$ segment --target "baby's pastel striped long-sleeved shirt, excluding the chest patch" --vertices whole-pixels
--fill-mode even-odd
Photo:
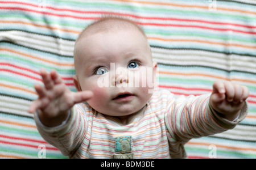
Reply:
[[[160,90],[128,125],[119,125],[87,103],[75,105],[68,121],[56,128],[35,120],[42,137],[70,158],[113,158],[115,138],[122,136],[131,136],[135,158],[186,158],[184,145],[189,139],[232,129],[245,118],[247,105],[241,113],[238,120],[228,121],[210,109],[209,95],[176,97]]]

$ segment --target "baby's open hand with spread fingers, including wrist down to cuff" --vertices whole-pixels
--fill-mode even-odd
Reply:
[[[91,91],[72,92],[61,77],[52,70],[40,70],[44,87],[35,84],[38,99],[33,101],[28,109],[29,113],[34,113],[37,109],[42,124],[48,127],[60,125],[68,115],[68,110],[77,103],[86,101],[93,96]]]

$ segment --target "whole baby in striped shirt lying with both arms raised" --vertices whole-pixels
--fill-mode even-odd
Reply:
[[[247,114],[249,90],[217,81],[209,95],[175,97],[154,90],[147,37],[135,23],[104,18],[89,25],[74,50],[78,92],[55,70],[30,108],[39,133],[69,158],[186,158],[191,138],[232,129]],[[145,83],[147,82],[147,83]]]

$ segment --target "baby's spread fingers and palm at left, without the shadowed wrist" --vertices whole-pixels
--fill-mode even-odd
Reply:
[[[89,100],[93,96],[92,91],[71,92],[55,70],[47,73],[45,69],[42,69],[40,73],[44,86],[35,84],[38,99],[30,105],[29,113],[42,109],[42,111],[57,115],[60,111],[66,111],[73,105]]]

